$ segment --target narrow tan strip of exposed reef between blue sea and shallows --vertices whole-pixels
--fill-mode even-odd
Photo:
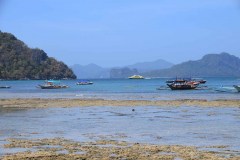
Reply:
[[[89,107],[89,106],[116,106],[116,107],[137,107],[137,106],[198,106],[198,107],[240,107],[240,100],[203,100],[203,99],[182,99],[182,100],[104,100],[104,99],[41,99],[41,98],[17,98],[0,99],[0,108],[51,108],[51,107]]]

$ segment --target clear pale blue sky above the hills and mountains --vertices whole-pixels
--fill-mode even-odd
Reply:
[[[0,30],[68,65],[240,57],[240,1],[0,0]]]

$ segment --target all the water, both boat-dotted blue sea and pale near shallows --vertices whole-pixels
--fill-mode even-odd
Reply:
[[[197,90],[172,91],[166,78],[129,80],[98,79],[93,85],[64,80],[67,89],[44,90],[44,81],[0,81],[0,98],[96,98],[133,100],[240,99],[232,85],[237,78],[206,78]],[[216,89],[228,88],[225,92]],[[160,88],[160,89],[157,89]],[[135,111],[132,111],[135,109]],[[234,107],[73,107],[8,109],[0,107],[0,156],[24,149],[6,149],[8,138],[55,138],[76,141],[114,139],[150,144],[198,147],[226,145],[240,153],[240,110]],[[219,149],[218,149],[219,150]]]

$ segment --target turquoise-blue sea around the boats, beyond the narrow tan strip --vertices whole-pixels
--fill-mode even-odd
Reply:
[[[44,81],[0,81],[0,85],[12,86],[0,89],[0,98],[101,98],[101,99],[239,99],[240,94],[232,87],[240,84],[238,78],[205,78],[197,90],[172,91],[165,81],[158,79],[93,79],[93,85],[76,85],[77,80],[64,80],[67,89],[42,90],[37,88]],[[223,88],[222,88],[223,86]],[[160,88],[159,90],[157,88]]]

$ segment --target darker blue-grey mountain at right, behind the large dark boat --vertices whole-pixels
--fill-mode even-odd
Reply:
[[[145,72],[150,77],[240,77],[240,59],[228,53],[207,54],[197,61]]]

